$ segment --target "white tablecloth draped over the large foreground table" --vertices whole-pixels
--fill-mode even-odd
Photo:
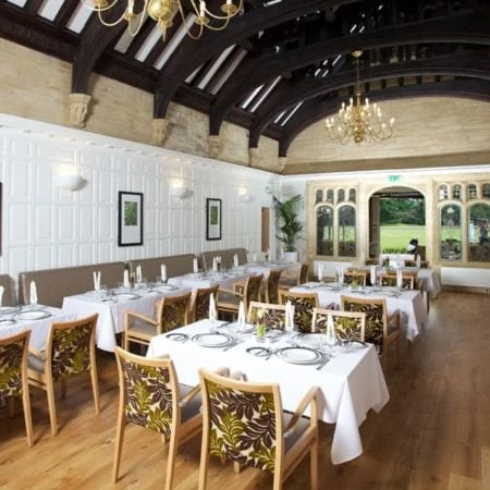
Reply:
[[[208,332],[209,320],[201,320],[173,332]],[[199,382],[198,368],[229,367],[247,375],[249,381],[278,382],[283,407],[294,411],[307,390],[320,388],[319,418],[335,424],[331,458],[340,464],[359,456],[363,452],[358,427],[370,408],[376,412],[388,403],[390,395],[378,356],[372,345],[366,348],[345,350],[321,370],[316,366],[289,364],[277,356],[270,359],[252,356],[246,348],[257,345],[254,335],[229,351],[203,347],[193,341],[175,342],[164,334],[154,338],[147,356],[170,354],[180,382],[195,385]],[[274,348],[282,346],[274,343]],[[285,344],[284,344],[285,345]]]

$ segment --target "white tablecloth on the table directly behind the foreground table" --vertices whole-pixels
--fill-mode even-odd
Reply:
[[[327,283],[328,284],[328,283]],[[387,299],[388,315],[392,315],[393,311],[400,309],[402,327],[405,329],[406,338],[413,341],[419,333],[420,329],[427,321],[427,308],[424,305],[424,298],[419,291],[404,291],[400,297],[394,297],[391,289],[387,289],[387,292],[371,292],[370,287],[366,287],[366,293],[356,293],[348,287],[344,287],[341,291],[335,291],[328,285],[321,285],[318,282],[308,282],[299,286],[294,286],[291,291],[296,292],[315,292],[318,294],[320,307],[324,308],[330,303],[335,303],[341,306],[341,295],[344,296],[358,296],[358,297],[372,297]]]

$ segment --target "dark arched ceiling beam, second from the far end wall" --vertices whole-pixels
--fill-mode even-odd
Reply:
[[[490,79],[490,50],[487,52],[460,52],[416,61],[377,65],[359,71],[359,82],[414,77],[419,75],[450,75]],[[303,79],[295,84],[283,84],[256,112],[250,128],[249,145],[256,148],[264,128],[281,112],[319,96],[355,85],[356,73],[345,70],[333,78]],[[371,98],[371,93],[365,94]],[[339,98],[335,97],[336,100]],[[344,100],[345,101],[345,100]],[[315,103],[318,103],[315,102]],[[340,105],[340,102],[338,102]],[[336,109],[335,109],[336,111]],[[297,113],[296,113],[297,115]]]

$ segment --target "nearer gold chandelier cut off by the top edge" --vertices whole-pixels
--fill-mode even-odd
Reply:
[[[82,0],[82,3],[90,10],[96,11],[100,22],[107,27],[112,27],[123,21],[127,22],[127,29],[131,36],[138,34],[148,15],[158,24],[163,41],[167,37],[167,29],[172,27],[173,17],[177,12],[181,14],[182,25],[187,35],[193,39],[199,39],[205,28],[210,30],[223,30],[226,28],[230,20],[242,12],[243,8],[243,0],[238,0],[238,5],[233,3],[234,0],[225,0],[220,8],[221,14],[215,14],[208,10],[205,1],[200,0],[197,2],[196,0],[189,0],[193,7],[192,13],[195,15],[194,24],[198,26],[192,33],[185,22],[185,13],[181,4],[182,0],[142,0],[144,1],[144,5],[139,12],[135,12],[135,0],[125,0],[126,8],[122,15],[114,22],[106,22],[102,17],[102,12],[111,10],[120,1],[124,0]],[[217,22],[212,21],[218,21],[220,24],[216,25]]]

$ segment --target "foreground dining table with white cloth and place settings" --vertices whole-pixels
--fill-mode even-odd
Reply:
[[[370,409],[380,412],[390,395],[378,355],[371,344],[321,347],[321,334],[306,338],[281,331],[259,342],[254,326],[204,319],[156,335],[147,356],[169,355],[179,382],[196,385],[200,367],[228,367],[252,382],[279,383],[283,408],[294,411],[310,387],[318,387],[318,417],[334,424],[333,464],[363,453],[359,426]],[[324,335],[321,335],[323,338]],[[308,341],[308,342],[307,342]]]

